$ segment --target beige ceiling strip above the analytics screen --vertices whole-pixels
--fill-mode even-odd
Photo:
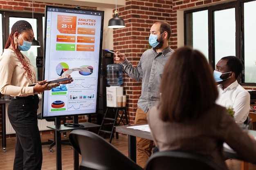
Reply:
[[[40,2],[115,9],[116,2],[119,8],[125,5],[126,0],[40,0]]]

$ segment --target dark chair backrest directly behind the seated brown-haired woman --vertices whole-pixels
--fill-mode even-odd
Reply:
[[[191,152],[155,152],[146,163],[146,170],[223,170],[207,157]]]

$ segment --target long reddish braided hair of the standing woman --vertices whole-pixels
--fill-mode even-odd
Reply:
[[[9,38],[8,38],[8,40],[7,40],[7,42],[6,42],[5,46],[4,46],[4,49],[8,49],[8,47],[10,45],[12,45],[13,47],[15,46],[15,44],[13,42],[13,35],[14,35],[14,33],[18,32],[19,34],[21,34],[23,32],[27,32],[28,30],[32,30],[33,31],[32,26],[31,26],[31,24],[29,24],[29,22],[27,22],[25,20],[20,20],[20,21],[15,22],[13,24],[13,26],[11,27],[11,33],[10,33]],[[25,69],[25,73],[24,73],[25,77],[29,78],[29,79],[31,79],[31,81],[33,81],[33,79],[32,79],[32,72],[30,70],[30,67],[29,67],[27,61],[24,60],[23,56],[22,55],[20,56],[17,53],[16,50],[14,50],[14,52],[18,56],[21,64],[23,65],[23,68]],[[26,76],[26,73],[27,73],[28,76]]]

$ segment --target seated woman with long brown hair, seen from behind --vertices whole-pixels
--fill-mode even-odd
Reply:
[[[204,155],[228,169],[223,142],[245,161],[256,163],[256,141],[243,131],[218,97],[213,69],[200,51],[184,46],[168,59],[159,88],[160,102],[148,112],[148,124],[159,151]]]

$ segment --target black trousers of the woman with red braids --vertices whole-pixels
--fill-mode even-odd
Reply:
[[[13,97],[8,106],[8,117],[16,131],[13,170],[40,170],[42,145],[37,126],[38,96]]]

